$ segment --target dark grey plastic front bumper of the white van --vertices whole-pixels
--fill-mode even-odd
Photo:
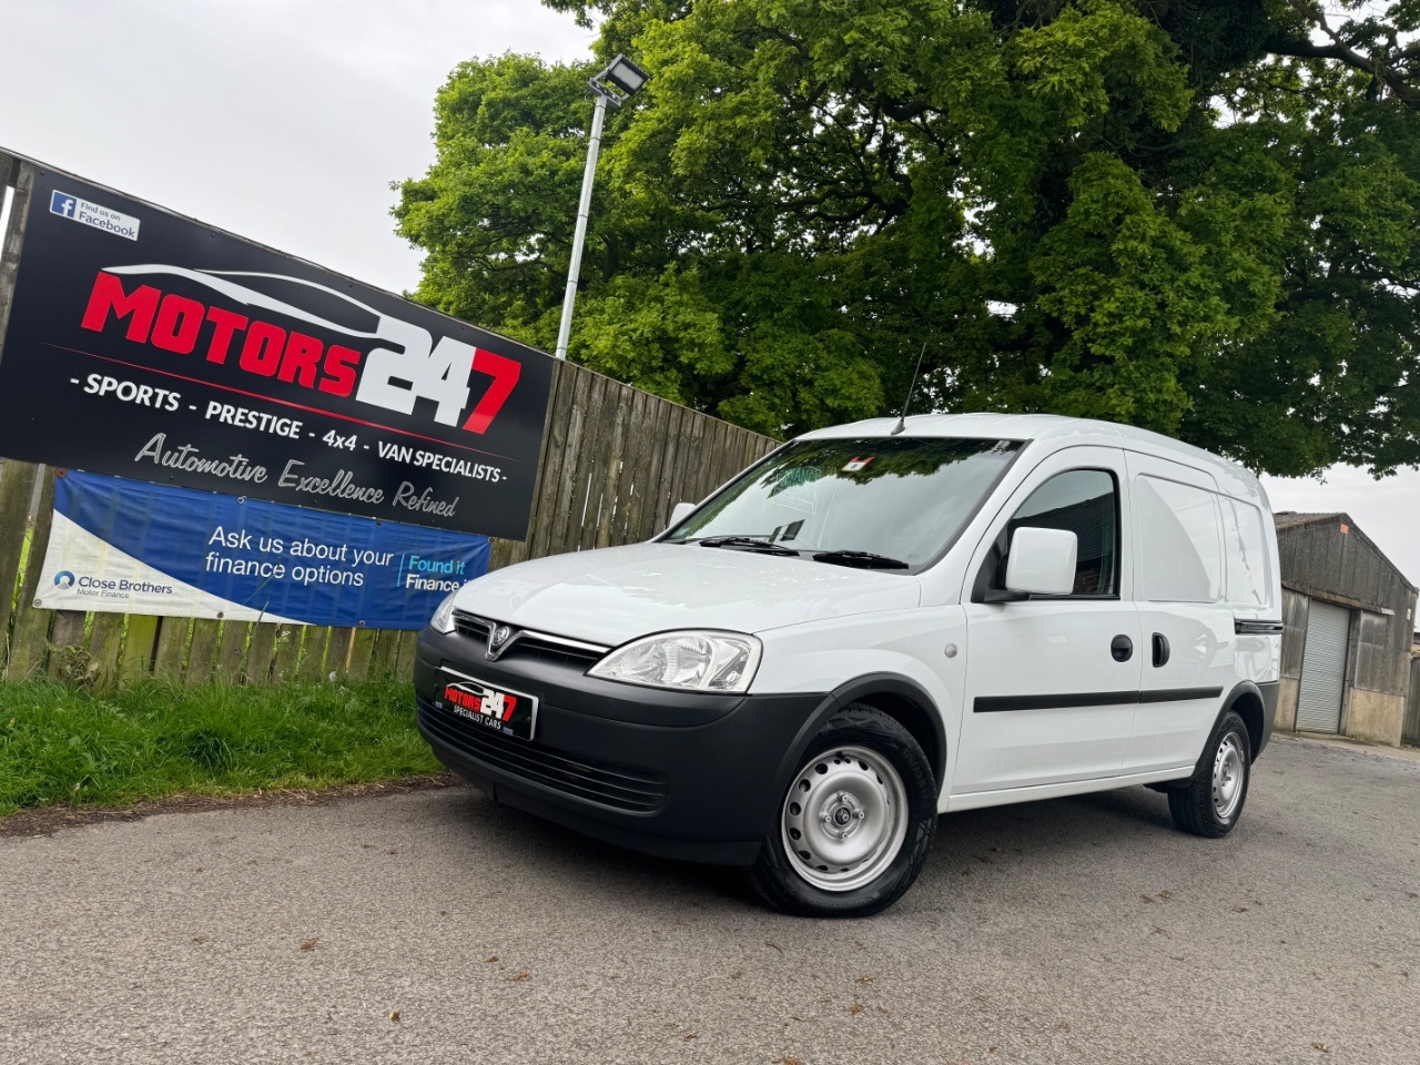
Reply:
[[[517,653],[488,662],[476,640],[426,628],[415,662],[419,731],[498,802],[646,853],[753,863],[832,696],[669,692],[589,677],[586,667]],[[443,706],[460,674],[535,696],[532,740]]]

